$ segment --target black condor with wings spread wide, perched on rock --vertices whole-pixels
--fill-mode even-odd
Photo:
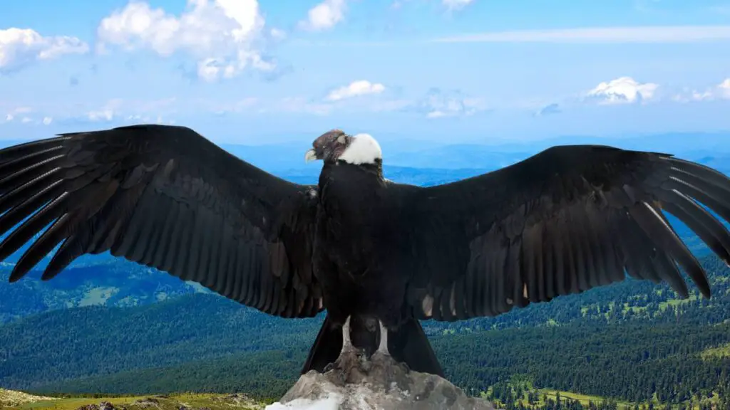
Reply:
[[[663,211],[730,263],[730,233],[704,208],[730,220],[730,179],[706,166],[573,145],[417,187],[383,179],[371,140],[337,130],[316,139],[307,156],[324,161],[318,185],[274,177],[177,126],[9,147],[0,234],[12,232],[0,260],[33,241],[13,282],[61,244],[50,279],[110,250],[269,314],[326,309],[303,371],[323,371],[351,335],[368,354],[383,340],[397,360],[434,374],[442,369],[418,320],[494,316],[625,273],[687,298],[680,268],[709,298],[702,266]]]

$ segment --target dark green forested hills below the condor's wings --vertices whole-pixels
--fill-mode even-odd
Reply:
[[[701,262],[710,300],[627,279],[499,317],[423,325],[448,379],[511,409],[727,406],[730,269],[714,256]],[[282,320],[204,293],[31,314],[0,327],[0,384],[270,401],[298,378],[321,320]],[[556,400],[551,390],[600,400]]]

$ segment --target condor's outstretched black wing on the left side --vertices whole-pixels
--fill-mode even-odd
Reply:
[[[234,157],[190,128],[133,125],[0,150],[0,260],[37,238],[14,282],[111,250],[269,314],[322,309],[312,275],[315,188]],[[45,232],[38,235],[50,225]]]

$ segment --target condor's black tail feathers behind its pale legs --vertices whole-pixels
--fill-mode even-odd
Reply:
[[[350,339],[355,347],[365,349],[368,356],[372,355],[380,343],[380,327],[372,325],[365,317],[353,316],[350,318]],[[334,323],[327,316],[310,349],[310,355],[301,368],[301,374],[310,370],[323,373],[329,363],[337,360],[341,351],[342,325]],[[444,376],[429,339],[416,319],[410,318],[398,330],[388,333],[388,352],[393,359],[406,363],[413,371]]]

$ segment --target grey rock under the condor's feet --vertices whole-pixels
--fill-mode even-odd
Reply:
[[[325,374],[310,371],[266,410],[494,410],[446,379],[410,371],[390,356],[343,352]]]

